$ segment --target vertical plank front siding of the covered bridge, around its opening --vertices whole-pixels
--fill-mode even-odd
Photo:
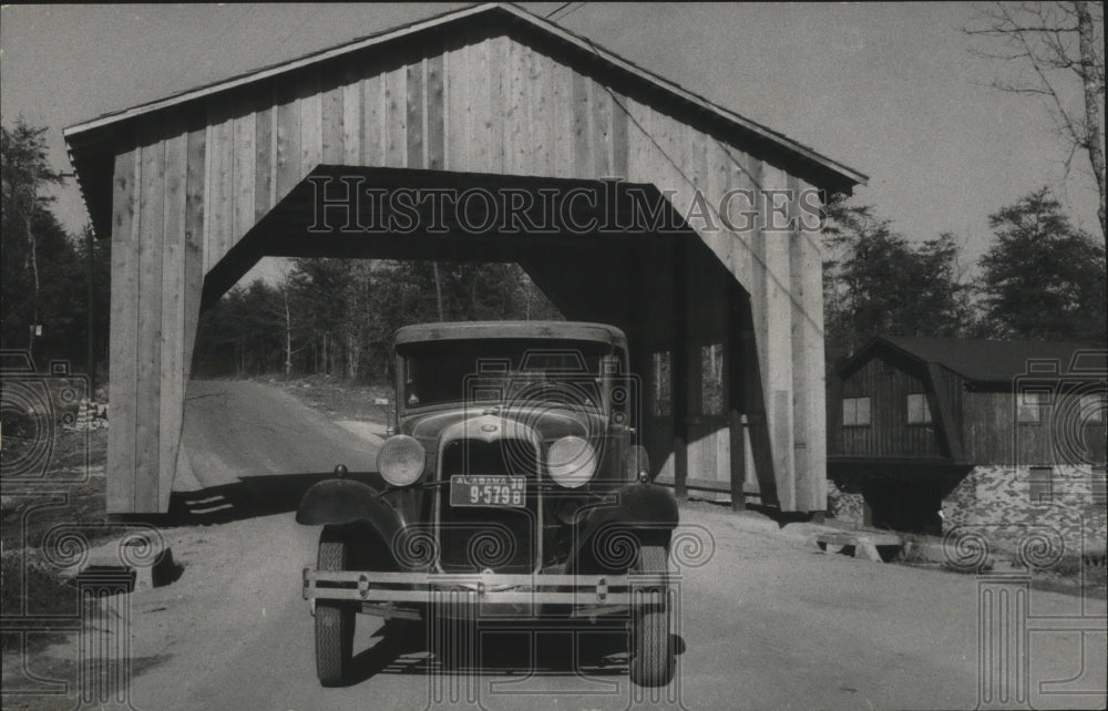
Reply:
[[[307,68],[291,80],[207,97],[205,127],[188,134],[156,115],[140,120],[136,132],[147,140],[141,150],[120,151],[112,369],[113,382],[125,392],[133,384],[136,398],[131,406],[121,399],[116,410],[133,408],[116,420],[134,427],[112,435],[112,511],[164,509],[167,502],[183,409],[178,381],[195,332],[196,266],[211,270],[319,163],[357,157],[387,167],[620,176],[676,189],[683,214],[700,190],[717,223],[715,205],[729,187],[789,187],[780,167],[506,37],[455,40],[403,61]],[[163,175],[148,174],[163,165]],[[750,293],[756,315],[765,398],[747,403],[751,427],[768,427],[782,508],[822,508],[822,292],[809,284],[819,274],[811,271],[818,245],[811,236],[718,227],[698,231]],[[163,349],[176,353],[163,358]],[[153,471],[156,486],[123,483],[151,481],[143,472]]]

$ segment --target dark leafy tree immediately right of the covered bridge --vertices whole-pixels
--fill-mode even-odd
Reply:
[[[825,210],[829,367],[874,336],[965,334],[973,310],[953,235],[912,245],[870,206],[851,206],[840,196]]]

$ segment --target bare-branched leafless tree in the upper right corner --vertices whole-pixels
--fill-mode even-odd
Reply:
[[[1100,233],[1108,239],[1102,143],[1104,24],[1100,3],[995,2],[981,8],[963,31],[981,42],[971,49],[974,54],[1017,62],[1030,70],[1026,80],[997,79],[993,86],[1045,100],[1069,146],[1066,173],[1078,151],[1089,162],[1100,194]]]

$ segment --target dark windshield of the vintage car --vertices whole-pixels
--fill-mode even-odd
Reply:
[[[563,403],[601,406],[607,343],[550,339],[472,339],[407,343],[403,403]]]

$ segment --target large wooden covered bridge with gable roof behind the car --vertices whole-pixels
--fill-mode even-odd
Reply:
[[[187,456],[198,316],[263,256],[519,262],[567,318],[626,331],[646,395],[637,424],[661,481],[824,508],[812,218],[819,195],[865,176],[587,39],[513,6],[475,6],[102,116],[65,140],[95,233],[112,239],[111,512],[166,509]],[[355,184],[343,181],[390,196],[511,187],[601,227],[320,229],[319,209]],[[646,208],[614,219],[634,199]]]

